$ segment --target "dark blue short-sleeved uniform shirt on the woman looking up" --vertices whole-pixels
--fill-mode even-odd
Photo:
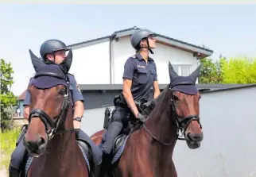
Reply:
[[[149,100],[153,82],[157,81],[157,67],[152,58],[148,63],[138,53],[126,60],[122,79],[132,79],[131,94],[134,101]]]

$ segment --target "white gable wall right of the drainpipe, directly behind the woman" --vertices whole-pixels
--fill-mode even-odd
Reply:
[[[114,48],[112,52],[112,59],[114,60],[113,83],[121,84],[124,63],[130,56],[134,55],[135,51],[130,44],[130,37],[122,37],[118,41],[114,40],[112,45]],[[160,84],[169,83],[169,61],[173,65],[189,65],[191,66],[191,72],[197,67],[196,58],[192,56],[192,53],[163,44],[157,43],[157,48],[154,49],[154,54],[151,57],[157,65],[158,82]]]

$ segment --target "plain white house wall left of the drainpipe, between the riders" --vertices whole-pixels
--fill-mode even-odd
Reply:
[[[109,42],[74,49],[70,73],[79,84],[110,83]]]

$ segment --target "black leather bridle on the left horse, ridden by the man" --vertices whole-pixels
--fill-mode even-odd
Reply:
[[[52,139],[52,137],[54,137],[56,134],[66,133],[68,131],[75,131],[76,129],[60,130],[61,129],[60,123],[66,120],[67,113],[68,113],[68,104],[70,102],[70,92],[69,92],[70,82],[69,82],[68,75],[57,75],[56,73],[53,73],[53,72],[40,72],[40,73],[37,73],[33,77],[33,79],[36,79],[41,76],[50,76],[50,77],[56,77],[58,79],[64,79],[64,81],[68,85],[65,89],[64,102],[62,103],[60,114],[58,114],[55,117],[54,121],[52,121],[52,118],[49,117],[44,110],[33,109],[29,114],[29,123],[33,117],[40,117],[41,121],[43,121],[43,123],[45,124],[45,132],[48,135],[48,140]]]

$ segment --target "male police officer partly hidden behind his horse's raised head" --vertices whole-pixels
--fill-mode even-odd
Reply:
[[[46,40],[40,49],[40,54],[45,63],[56,63],[60,64],[65,60],[66,52],[69,49],[66,44],[60,40]],[[94,144],[94,142],[80,129],[81,117],[83,117],[83,95],[80,92],[80,89],[76,83],[74,75],[68,74],[70,80],[70,90],[72,93],[72,105],[74,109],[74,128],[79,129],[76,132],[76,138],[79,140],[86,140],[91,145],[94,161],[101,163],[102,151]],[[30,104],[30,94],[29,91],[26,91],[25,101],[24,101],[24,117],[29,119],[29,104]],[[24,135],[23,135],[24,136]],[[22,137],[23,138],[23,137]],[[17,148],[14,150],[10,160],[10,176],[16,177],[21,173],[21,166],[25,163],[24,159],[26,156],[26,150],[23,145],[22,140],[17,145]],[[95,164],[95,165],[99,165]]]

